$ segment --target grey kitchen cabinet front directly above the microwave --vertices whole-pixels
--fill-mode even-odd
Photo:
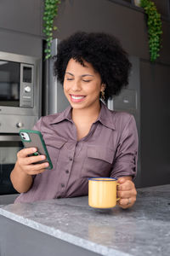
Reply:
[[[0,51],[42,57],[42,0],[5,0],[0,8]]]

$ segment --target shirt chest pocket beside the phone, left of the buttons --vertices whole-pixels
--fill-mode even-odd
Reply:
[[[51,136],[50,134],[44,134],[43,139],[48,149],[48,154],[52,161],[53,167],[56,169],[57,161],[59,159],[59,151],[66,142],[58,137]]]

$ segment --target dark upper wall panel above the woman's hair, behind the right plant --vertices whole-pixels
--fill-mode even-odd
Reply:
[[[161,0],[159,0],[161,1]],[[148,38],[142,9],[109,0],[62,0],[55,25],[59,30],[54,38],[63,39],[77,30],[109,32],[120,39],[129,55],[149,60]],[[170,24],[163,20],[163,48],[161,61],[170,64]]]

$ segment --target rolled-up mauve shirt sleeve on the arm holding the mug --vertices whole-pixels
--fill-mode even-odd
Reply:
[[[133,115],[130,115],[116,148],[111,177],[136,177],[138,145],[139,140],[136,122]]]

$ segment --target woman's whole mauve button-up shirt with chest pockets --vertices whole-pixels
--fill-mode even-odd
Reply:
[[[42,132],[54,168],[34,177],[31,189],[15,202],[88,195],[88,177],[135,177],[138,135],[129,113],[101,103],[99,118],[79,141],[71,107],[42,117],[34,130]]]

